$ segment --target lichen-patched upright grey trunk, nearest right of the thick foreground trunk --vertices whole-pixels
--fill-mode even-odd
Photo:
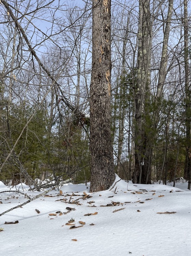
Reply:
[[[150,1],[139,1],[138,24],[138,57],[137,57],[137,83],[135,88],[135,169],[134,183],[145,183],[147,174],[145,170],[145,99],[148,91],[149,66],[150,66]],[[147,168],[147,167],[146,167]],[[143,175],[143,176],[142,176]],[[142,178],[144,177],[144,178]]]

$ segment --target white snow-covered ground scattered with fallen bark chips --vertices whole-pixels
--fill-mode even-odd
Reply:
[[[0,228],[4,229],[0,232],[0,255],[190,255],[191,193],[187,190],[187,182],[176,183],[175,188],[170,183],[168,186],[127,183],[118,176],[115,182],[112,189],[97,193],[89,193],[89,185],[65,185],[61,188],[63,194],[53,190],[48,193],[48,197],[39,197],[22,208],[0,216]],[[23,183],[16,188],[24,190],[31,198],[42,193],[28,191]],[[16,188],[7,187],[0,181],[0,192]],[[86,195],[92,197],[83,199],[82,196]],[[80,198],[77,201],[81,205],[68,203],[70,198],[71,202]],[[60,199],[66,199],[66,202]],[[11,191],[0,193],[0,213],[27,200],[23,194]],[[93,203],[88,203],[91,201]],[[117,204],[100,206],[112,204],[112,201]],[[62,215],[49,215],[56,211],[67,212],[66,207],[76,210]],[[121,208],[125,209],[113,212]],[[97,214],[84,216],[95,212]],[[70,229],[71,226],[65,224],[71,219],[75,219],[75,226],[81,226],[79,221],[86,224]],[[4,224],[14,221],[19,222]]]

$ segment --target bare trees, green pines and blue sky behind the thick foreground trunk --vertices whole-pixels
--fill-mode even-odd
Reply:
[[[91,1],[1,2],[0,180],[88,182]],[[111,131],[125,180],[191,179],[189,4],[112,2]]]

